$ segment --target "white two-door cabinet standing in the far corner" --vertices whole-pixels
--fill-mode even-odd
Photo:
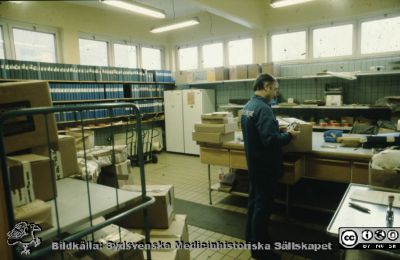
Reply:
[[[194,124],[201,115],[215,111],[215,92],[212,89],[164,91],[165,135],[167,151],[200,154],[192,140]]]

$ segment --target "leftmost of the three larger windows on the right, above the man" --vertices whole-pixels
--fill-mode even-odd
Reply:
[[[304,60],[306,58],[306,32],[272,35],[271,50],[272,61]]]

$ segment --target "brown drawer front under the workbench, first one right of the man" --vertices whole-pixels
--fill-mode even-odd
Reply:
[[[346,160],[308,157],[305,176],[319,180],[350,182],[350,167],[350,161]]]

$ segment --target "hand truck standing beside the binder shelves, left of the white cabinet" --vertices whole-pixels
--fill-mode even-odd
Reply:
[[[153,142],[155,138],[162,135],[162,133],[155,129],[157,118],[160,114],[154,114],[151,119],[147,119],[146,128],[142,130],[142,144],[143,144],[143,158],[144,163],[157,163],[157,155],[153,151]],[[132,166],[139,165],[138,160],[138,136],[135,135],[135,129],[130,129],[127,133],[126,143],[128,145],[129,158],[131,160]]]

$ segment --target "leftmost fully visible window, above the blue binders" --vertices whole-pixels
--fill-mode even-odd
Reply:
[[[56,62],[55,34],[13,28],[17,60]]]

